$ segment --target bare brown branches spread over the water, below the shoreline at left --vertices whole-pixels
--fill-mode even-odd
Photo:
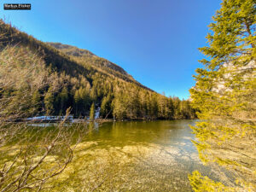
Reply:
[[[65,124],[66,118],[54,129],[28,125],[0,127],[0,191],[40,191],[51,188],[73,160],[79,143],[78,129]],[[76,137],[74,137],[76,135]]]

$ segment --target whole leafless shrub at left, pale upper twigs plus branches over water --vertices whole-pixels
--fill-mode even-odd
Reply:
[[[0,51],[1,192],[51,188],[54,178],[73,160],[80,136],[86,134],[79,125],[66,126],[70,110],[66,119],[51,129],[14,123],[32,115],[37,104],[32,103],[33,94],[41,91],[44,97],[49,84],[54,91],[61,86],[57,74],[49,74],[37,53],[19,44]]]

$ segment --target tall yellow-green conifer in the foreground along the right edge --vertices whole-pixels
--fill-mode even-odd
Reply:
[[[224,0],[221,5],[210,25],[212,33],[207,35],[209,46],[200,49],[207,55],[207,59],[201,60],[205,67],[196,70],[196,84],[190,90],[193,107],[200,111],[201,119],[192,127],[198,138],[194,143],[201,160],[216,162],[233,172],[236,185],[225,181],[233,191],[253,191],[256,189],[255,1]],[[212,188],[209,178],[196,172],[189,179],[195,191]],[[206,182],[202,188],[200,185]]]

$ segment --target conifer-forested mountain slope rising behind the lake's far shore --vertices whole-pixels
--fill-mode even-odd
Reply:
[[[189,101],[138,83],[118,65],[85,49],[43,43],[0,20],[0,116],[76,117],[101,108],[102,118],[190,119]],[[19,110],[19,113],[17,112]]]

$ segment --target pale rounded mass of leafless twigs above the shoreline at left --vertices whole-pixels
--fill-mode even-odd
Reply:
[[[32,103],[33,94],[44,92],[49,84],[54,91],[61,87],[57,74],[49,74],[42,58],[30,49],[7,46],[0,52],[0,119],[32,114],[32,105],[37,104]]]

